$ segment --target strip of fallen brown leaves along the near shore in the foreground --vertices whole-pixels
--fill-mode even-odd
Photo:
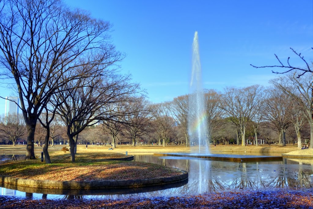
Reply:
[[[29,200],[0,196],[1,208],[313,208],[313,190],[257,190],[204,193],[186,197],[128,198],[123,200]],[[262,197],[262,199],[260,199]]]

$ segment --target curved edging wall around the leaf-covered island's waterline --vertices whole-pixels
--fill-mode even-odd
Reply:
[[[50,180],[30,180],[18,179],[8,176],[0,176],[0,183],[47,189],[114,189],[114,188],[138,188],[144,186],[164,185],[177,183],[188,179],[187,171],[176,169],[182,174],[173,177],[163,177],[155,179],[138,180],[118,180],[118,181],[50,181]]]

